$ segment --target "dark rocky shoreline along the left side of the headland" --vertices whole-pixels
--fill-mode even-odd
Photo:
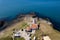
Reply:
[[[28,14],[29,14],[29,15],[30,15],[30,14],[31,14],[31,15],[35,15],[34,12],[29,12]],[[27,14],[27,15],[28,15],[28,14]],[[18,14],[18,15],[16,15],[16,17],[15,17],[13,20],[11,20],[11,21],[1,20],[1,21],[0,21],[0,31],[4,30],[4,29],[7,28],[8,26],[11,26],[11,25],[13,25],[13,24],[15,24],[15,23],[17,23],[17,22],[22,21],[22,20],[23,20],[23,17],[24,17],[25,15],[26,15],[26,14],[24,14],[24,13]],[[8,19],[8,18],[7,18],[7,19]]]

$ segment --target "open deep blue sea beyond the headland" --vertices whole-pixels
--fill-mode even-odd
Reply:
[[[39,12],[49,17],[60,30],[60,0],[0,0],[0,19],[14,18],[19,12]]]

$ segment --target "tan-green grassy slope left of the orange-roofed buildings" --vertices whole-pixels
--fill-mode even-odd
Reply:
[[[7,37],[7,36],[11,36],[11,34],[13,33],[13,29],[24,29],[26,28],[28,25],[27,23],[25,23],[24,21],[18,22],[14,25],[9,26],[8,28],[6,28],[5,30],[3,30],[3,35],[0,34],[0,38],[3,37]]]

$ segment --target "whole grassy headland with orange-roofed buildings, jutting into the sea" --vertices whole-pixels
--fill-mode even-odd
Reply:
[[[52,22],[39,18],[35,12],[20,14],[5,26],[0,31],[0,40],[60,40],[60,32]]]

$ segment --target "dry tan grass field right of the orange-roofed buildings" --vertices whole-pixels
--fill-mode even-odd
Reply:
[[[47,23],[40,22],[40,29],[36,30],[34,36],[37,37],[37,40],[42,39],[42,35],[48,35],[51,40],[60,40],[60,32],[53,29],[53,26],[48,25]]]

